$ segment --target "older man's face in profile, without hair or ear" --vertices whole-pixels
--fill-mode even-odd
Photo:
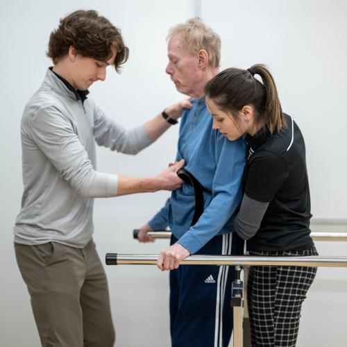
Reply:
[[[201,85],[202,71],[198,68],[198,55],[192,55],[181,43],[181,34],[172,35],[167,47],[169,64],[165,71],[175,83],[178,92],[194,96]]]

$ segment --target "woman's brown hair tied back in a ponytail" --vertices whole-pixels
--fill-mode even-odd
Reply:
[[[254,78],[255,74],[262,78],[262,83]],[[205,85],[205,94],[233,117],[239,115],[244,105],[253,105],[255,122],[264,122],[270,133],[286,126],[275,81],[264,65],[223,70]]]

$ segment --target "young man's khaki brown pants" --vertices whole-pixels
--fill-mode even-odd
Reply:
[[[15,253],[42,346],[114,345],[107,280],[93,241],[85,248],[15,244]]]

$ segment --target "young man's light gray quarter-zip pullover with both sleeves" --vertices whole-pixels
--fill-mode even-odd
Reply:
[[[96,171],[95,141],[128,154],[152,142],[143,125],[119,126],[50,69],[24,108],[21,137],[24,193],[15,242],[78,248],[92,238],[94,198],[117,196],[117,175]]]

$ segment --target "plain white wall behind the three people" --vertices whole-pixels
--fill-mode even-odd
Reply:
[[[49,33],[60,17],[78,8],[99,10],[121,28],[130,59],[121,75],[108,71],[107,80],[96,83],[90,97],[121,124],[135,126],[180,98],[164,74],[165,37],[171,25],[192,17],[199,3],[202,17],[221,34],[222,67],[246,68],[255,62],[271,67],[284,109],[305,135],[312,212],[321,218],[346,217],[344,1],[1,2],[1,346],[39,346],[26,287],[15,264],[12,226],[22,194],[20,119],[50,64],[44,56]],[[130,176],[155,174],[174,158],[177,130],[172,127],[136,157],[98,149],[98,167]],[[156,253],[162,248],[165,241],[137,244],[131,230],[147,221],[167,196],[162,192],[96,201],[94,239],[101,258],[106,252]],[[346,245],[318,246],[323,254],[346,255]],[[106,271],[117,346],[169,346],[167,273],[154,266],[108,266]],[[346,273],[347,269],[319,271],[305,303],[298,346],[344,345]]]

